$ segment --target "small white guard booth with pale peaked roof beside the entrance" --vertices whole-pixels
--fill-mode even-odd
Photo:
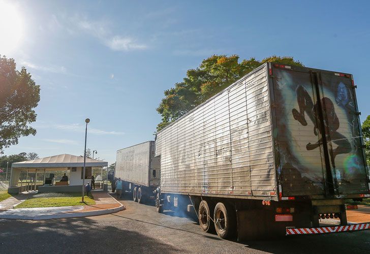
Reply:
[[[86,158],[85,184],[91,184],[91,176],[106,179],[108,162]],[[104,174],[105,173],[105,174]],[[68,180],[63,178],[66,174]],[[18,194],[26,190],[47,192],[79,192],[83,181],[83,157],[59,154],[12,164],[8,193]]]

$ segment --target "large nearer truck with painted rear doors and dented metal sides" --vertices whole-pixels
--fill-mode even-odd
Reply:
[[[348,73],[264,63],[157,133],[158,212],[187,207],[221,238],[369,229],[346,216],[370,197],[355,90]]]

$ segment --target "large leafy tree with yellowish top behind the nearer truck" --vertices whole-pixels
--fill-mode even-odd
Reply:
[[[212,55],[204,59],[198,68],[187,71],[187,76],[182,82],[164,91],[165,98],[157,108],[158,113],[162,115],[162,122],[157,125],[157,131],[162,130],[169,123],[188,113],[262,63],[269,61],[303,66],[293,57],[276,55],[261,61],[252,57],[239,62],[238,55]]]

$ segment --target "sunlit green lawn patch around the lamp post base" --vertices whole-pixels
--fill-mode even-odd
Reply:
[[[20,203],[15,208],[52,207],[52,206],[80,206],[81,193],[42,193]],[[84,197],[87,205],[94,205],[95,200],[91,193]]]

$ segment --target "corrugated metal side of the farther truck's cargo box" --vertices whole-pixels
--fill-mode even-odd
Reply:
[[[154,154],[150,153],[148,141],[117,151],[115,177],[122,180],[149,186],[149,163]]]

